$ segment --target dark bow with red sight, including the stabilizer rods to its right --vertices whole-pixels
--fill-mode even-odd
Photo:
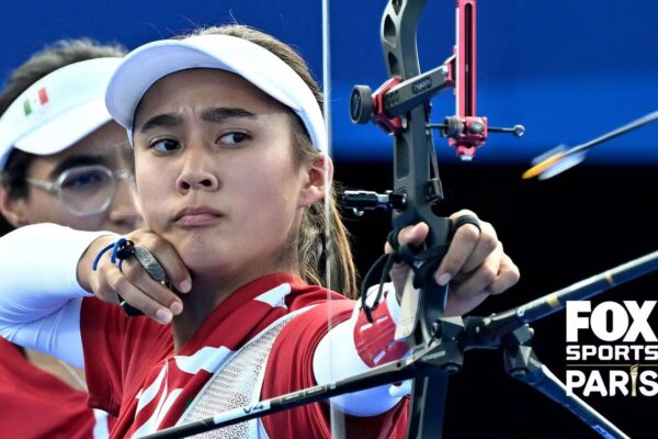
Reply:
[[[432,130],[440,130],[449,145],[462,160],[470,161],[489,132],[511,133],[521,137],[524,128],[488,126],[487,117],[476,114],[476,1],[456,1],[457,42],[454,54],[440,67],[420,72],[417,52],[417,25],[426,0],[390,0],[382,18],[382,47],[389,79],[375,92],[366,86],[354,87],[351,95],[351,117],[354,123],[373,122],[394,138],[394,189],[386,194],[347,192],[343,204],[362,214],[366,209],[393,211],[394,234],[401,227],[426,222],[430,226],[427,248],[445,248],[450,239],[446,218],[433,214],[432,206],[443,194]],[[442,124],[430,121],[430,99],[447,88],[455,89],[456,114]],[[389,241],[392,241],[389,236]],[[427,250],[426,250],[427,254]],[[443,254],[433,255],[439,261]],[[488,317],[444,318],[446,289],[439,288],[431,278],[415,280],[420,288],[418,303],[405,316],[412,320],[404,333],[413,348],[413,380],[411,409],[407,428],[408,438],[440,438],[447,378],[458,371],[463,352],[468,349],[498,348],[503,351],[506,369],[544,395],[560,403],[572,414],[605,437],[626,436],[602,415],[574,395],[567,395],[559,380],[543,365],[532,351],[533,331],[529,323],[564,307],[567,300],[582,300],[605,291],[615,281],[643,275],[656,270],[654,252],[620,266],[606,273],[581,281],[576,285],[540,297],[529,304]],[[413,264],[427,263],[416,259]],[[433,267],[436,267],[438,263]],[[413,270],[418,273],[418,270]],[[608,278],[606,278],[608,277]],[[362,295],[367,291],[366,284]],[[407,295],[405,291],[405,295]],[[405,299],[402,300],[405,301]],[[396,338],[399,334],[396,333]]]

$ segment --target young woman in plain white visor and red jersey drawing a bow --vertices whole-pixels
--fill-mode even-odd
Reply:
[[[11,295],[4,292],[25,286],[25,277],[0,274],[0,334],[84,363],[91,404],[118,416],[116,438],[203,417],[204,403],[194,401],[200,393],[214,394],[212,410],[235,408],[402,354],[390,341],[405,267],[392,270],[371,326],[355,302],[319,286],[326,258],[331,288],[355,294],[345,232],[327,195],[332,165],[320,100],[299,56],[248,27],[209,29],[134,50],[106,95],[134,147],[146,222],[125,237],[149,250],[169,283],[147,274],[148,257],[111,263],[102,250],[116,236],[55,226],[18,230],[0,241],[0,267],[34,269],[19,249],[38,246],[48,252],[44,259],[63,261],[38,266],[44,281],[60,286]],[[399,241],[420,244],[427,232],[424,224],[408,227]],[[18,255],[3,258],[8,249]],[[518,278],[486,222],[457,229],[435,273],[439,283],[450,282],[453,314]],[[102,301],[88,299],[90,292]],[[120,301],[145,316],[127,317]],[[71,334],[82,342],[59,346]],[[39,342],[42,336],[58,346]],[[327,359],[337,354],[342,370],[329,370]],[[350,415],[350,431],[404,437],[407,405],[399,401],[386,387],[337,404]],[[329,418],[315,404],[216,435],[328,438]]]

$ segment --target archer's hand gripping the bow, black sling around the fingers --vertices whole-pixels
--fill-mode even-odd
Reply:
[[[476,216],[470,211],[460,211],[450,216],[455,221],[462,215]],[[500,294],[519,281],[519,268],[502,249],[491,224],[480,219],[480,229],[465,224],[455,230],[450,248],[434,273],[440,285],[449,284],[445,314],[463,315],[479,305],[489,294]],[[405,227],[398,240],[400,245],[420,246],[426,240],[429,227],[426,223]],[[393,249],[386,244],[385,251]],[[404,291],[409,267],[395,263],[390,279],[399,295]]]

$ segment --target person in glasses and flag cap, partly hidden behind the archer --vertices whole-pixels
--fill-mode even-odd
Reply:
[[[125,131],[104,105],[123,55],[121,47],[64,41],[12,72],[0,94],[0,218],[10,227],[48,222],[126,233],[139,226],[132,187],[121,183],[128,169]],[[3,435],[107,437],[106,414],[88,407],[86,390],[81,370],[0,338]]]

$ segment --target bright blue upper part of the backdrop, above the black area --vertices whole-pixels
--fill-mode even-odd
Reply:
[[[387,160],[390,142],[353,126],[355,83],[385,78],[379,20],[385,1],[331,2],[333,155]],[[44,44],[92,36],[133,48],[208,25],[237,21],[294,44],[321,78],[321,3],[282,0],[5,2],[0,78]],[[566,143],[578,145],[658,109],[658,2],[653,0],[488,0],[478,2],[478,114],[492,126],[521,123],[526,135],[491,135],[477,162],[527,162]],[[443,63],[454,44],[454,1],[428,1],[420,23],[421,67]],[[434,99],[435,122],[454,113],[452,93]],[[588,164],[658,162],[658,123],[602,145]],[[440,158],[456,160],[444,140]]]

